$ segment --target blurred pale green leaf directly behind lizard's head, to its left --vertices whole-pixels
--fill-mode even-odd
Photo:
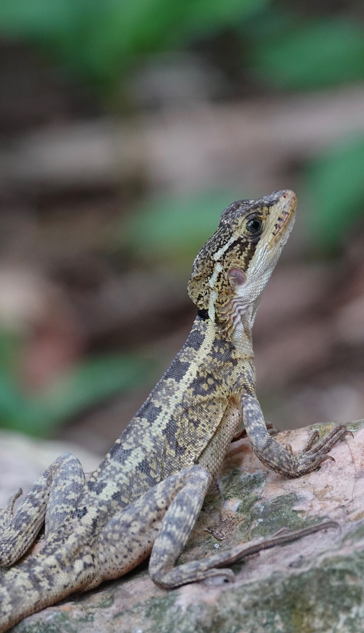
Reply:
[[[204,191],[189,196],[149,200],[126,218],[122,241],[144,261],[186,265],[216,230],[223,209],[235,199],[232,191]]]

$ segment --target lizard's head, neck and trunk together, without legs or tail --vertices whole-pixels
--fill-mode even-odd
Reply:
[[[198,316],[191,333],[92,473],[89,492],[125,505],[198,462],[215,476],[241,422],[241,385],[255,385],[251,327],[295,206],[291,191],[279,191],[223,211],[192,267],[189,295]]]

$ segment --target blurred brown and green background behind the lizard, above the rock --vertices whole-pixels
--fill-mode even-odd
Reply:
[[[364,416],[360,1],[0,1],[0,425],[101,452],[185,341],[235,199],[299,213],[265,291],[280,429]]]

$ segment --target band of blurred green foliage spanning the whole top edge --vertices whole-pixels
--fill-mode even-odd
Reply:
[[[41,46],[70,73],[118,92],[143,57],[230,30],[241,67],[288,89],[364,77],[364,29],[345,17],[308,18],[268,0],[0,0],[0,34]]]

